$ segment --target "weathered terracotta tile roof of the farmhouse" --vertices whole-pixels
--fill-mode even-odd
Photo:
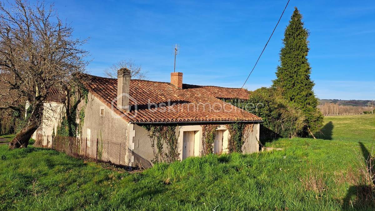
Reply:
[[[254,114],[216,98],[235,96],[233,90],[238,89],[183,84],[183,89],[178,90],[167,82],[136,79],[130,80],[129,105],[132,107],[129,112],[122,112],[116,108],[117,79],[92,75],[84,77],[82,82],[90,93],[128,122],[261,120]],[[247,96],[245,91],[241,92],[243,98]],[[160,107],[160,103],[165,103],[165,106]]]

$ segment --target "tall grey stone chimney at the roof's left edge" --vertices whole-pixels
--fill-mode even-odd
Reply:
[[[129,111],[129,86],[130,70],[121,68],[117,70],[117,109]]]

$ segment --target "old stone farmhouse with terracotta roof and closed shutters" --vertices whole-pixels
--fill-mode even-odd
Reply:
[[[249,93],[245,89],[183,84],[183,73],[180,72],[171,73],[170,82],[130,79],[128,69],[118,70],[117,79],[93,75],[81,75],[80,79],[88,94],[86,100],[80,100],[77,106],[76,113],[84,113],[77,136],[80,142],[84,142],[85,138],[98,137],[120,142],[121,149],[124,149],[121,153],[126,157],[121,160],[123,165],[138,166],[141,160],[151,163],[154,159],[152,140],[144,127],[147,125],[177,126],[179,160],[201,156],[204,145],[202,127],[205,125],[216,128],[213,153],[228,153],[231,134],[227,125],[238,122],[251,126],[246,127],[248,131],[242,152],[259,151],[261,118],[223,100],[248,99]],[[51,143],[45,137],[57,131],[65,114],[63,99],[66,94],[55,91],[51,96],[45,103],[44,113],[51,113],[48,115],[52,118],[44,120],[33,136],[44,137],[42,145],[47,146]],[[84,96],[79,97],[83,99]],[[57,107],[54,111],[61,112],[49,111],[51,106]],[[80,143],[80,146],[84,145]],[[87,148],[90,148],[89,144],[86,144],[85,150]],[[108,162],[116,163],[118,160],[116,156],[103,154]]]

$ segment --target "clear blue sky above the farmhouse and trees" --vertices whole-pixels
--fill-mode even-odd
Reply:
[[[48,1],[47,1],[48,2]],[[60,18],[90,37],[87,69],[103,76],[132,58],[148,79],[169,81],[172,45],[181,45],[176,71],[187,84],[241,87],[286,1],[57,1]],[[309,62],[321,99],[375,99],[375,2],[291,0],[245,88],[270,86],[281,39],[297,6],[311,35]]]

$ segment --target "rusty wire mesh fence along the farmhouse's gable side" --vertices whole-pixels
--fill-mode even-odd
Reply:
[[[127,148],[126,142],[114,142],[99,138],[37,135],[34,146],[50,148],[69,156],[116,166],[150,168],[151,163]]]

